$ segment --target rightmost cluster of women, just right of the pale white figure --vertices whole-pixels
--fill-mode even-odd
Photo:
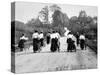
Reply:
[[[80,46],[81,50],[86,50],[86,39],[83,33],[79,34],[78,32],[74,35],[72,32],[69,32],[67,35],[67,50],[68,52],[72,52],[73,50],[76,52],[76,48]]]

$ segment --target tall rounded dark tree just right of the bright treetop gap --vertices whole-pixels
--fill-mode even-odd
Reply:
[[[54,14],[52,15],[53,18],[53,25],[54,26],[67,26],[69,24],[68,16],[61,11],[61,8],[57,5],[52,5],[50,7]]]

